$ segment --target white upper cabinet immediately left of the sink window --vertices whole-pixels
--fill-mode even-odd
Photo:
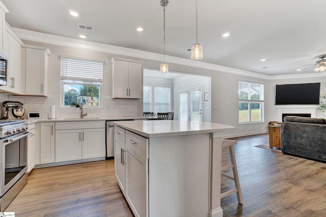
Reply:
[[[25,95],[48,96],[48,63],[51,52],[48,48],[26,47]]]

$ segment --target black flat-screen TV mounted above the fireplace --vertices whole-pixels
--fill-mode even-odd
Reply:
[[[319,105],[320,83],[276,85],[275,105]]]

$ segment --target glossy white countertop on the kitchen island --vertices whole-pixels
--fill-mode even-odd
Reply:
[[[235,130],[222,123],[179,120],[115,121],[116,125],[147,138],[214,133]]]

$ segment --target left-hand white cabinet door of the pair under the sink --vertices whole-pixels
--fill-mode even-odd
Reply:
[[[82,159],[82,130],[56,130],[56,162]]]

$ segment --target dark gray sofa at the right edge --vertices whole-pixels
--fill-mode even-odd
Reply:
[[[282,152],[326,163],[325,119],[286,116],[281,125]]]

